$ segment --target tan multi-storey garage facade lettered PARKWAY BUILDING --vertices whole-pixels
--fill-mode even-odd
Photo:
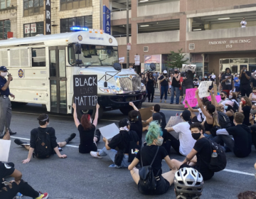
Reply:
[[[126,57],[126,1],[102,1],[112,11],[111,29],[119,42],[119,57]],[[129,1],[129,63],[140,55],[142,70],[154,62],[162,71],[170,52],[182,48],[188,63],[197,65],[199,76],[218,75],[225,68],[236,73],[244,65],[256,70],[255,11],[253,0]]]

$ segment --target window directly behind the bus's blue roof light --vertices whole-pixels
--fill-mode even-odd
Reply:
[[[72,26],[92,28],[92,15],[60,19],[60,33],[73,32]]]

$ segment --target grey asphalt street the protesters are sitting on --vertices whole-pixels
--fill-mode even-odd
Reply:
[[[159,96],[156,96],[159,98]],[[169,98],[170,99],[170,98]],[[38,114],[46,112],[41,105],[27,104],[26,106],[13,107],[11,129],[16,131],[15,137],[23,138],[23,141],[30,138],[31,129],[38,127],[36,118]],[[166,120],[175,115],[176,110],[162,110],[166,114]],[[118,124],[119,119],[125,116],[119,110],[105,112],[97,127],[107,124]],[[60,159],[58,156],[51,156],[48,159],[32,158],[28,164],[22,164],[26,159],[28,151],[14,143],[11,138],[11,151],[9,161],[15,163],[15,167],[23,173],[23,179],[28,181],[36,190],[48,192],[49,198],[175,198],[174,185],[164,195],[142,195],[137,190],[137,185],[132,180],[127,168],[109,168],[112,164],[110,158],[105,156],[102,159],[93,158],[90,154],[79,154],[78,145],[80,142],[78,130],[71,115],[50,114],[50,127],[53,127],[58,138],[57,141],[64,141],[71,133],[77,136],[65,146],[61,154],[68,158]],[[145,137],[145,134],[144,136]],[[98,149],[104,147],[101,140]],[[210,181],[206,181],[201,198],[237,198],[238,193],[245,190],[255,190],[255,163],[256,151],[252,148],[252,154],[247,158],[236,158],[232,153],[227,153],[227,171],[215,173]],[[171,150],[171,158],[183,161],[185,157],[178,156]],[[163,161],[163,173],[169,171]],[[9,178],[11,180],[11,178]],[[27,199],[28,197],[23,197]],[[4,198],[3,198],[4,199]]]

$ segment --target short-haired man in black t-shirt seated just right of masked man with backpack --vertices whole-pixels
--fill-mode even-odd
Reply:
[[[236,113],[234,118],[235,127],[217,130],[214,141],[217,144],[224,143],[234,152],[238,158],[245,158],[252,151],[252,133],[250,128],[242,124],[245,116],[242,113]],[[230,136],[233,136],[232,139]]]

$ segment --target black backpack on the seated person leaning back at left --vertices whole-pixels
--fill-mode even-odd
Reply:
[[[48,132],[36,135],[36,147],[33,156],[37,158],[48,158],[50,157],[53,150],[50,145],[50,134]]]

